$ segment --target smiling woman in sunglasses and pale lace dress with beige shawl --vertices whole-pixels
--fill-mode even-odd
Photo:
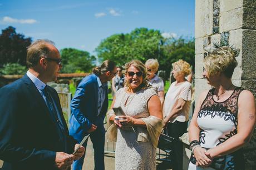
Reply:
[[[116,92],[112,103],[114,107],[121,107],[125,116],[117,120],[113,112],[108,113],[110,122],[114,121],[112,127],[118,127],[116,169],[156,169],[156,146],[163,115],[160,99],[148,86],[146,75],[146,68],[140,61],[127,63],[125,87]]]

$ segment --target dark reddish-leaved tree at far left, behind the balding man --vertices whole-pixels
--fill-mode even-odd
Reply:
[[[0,34],[0,67],[5,63],[19,63],[26,66],[27,47],[31,38],[18,34],[14,27],[7,27]]]

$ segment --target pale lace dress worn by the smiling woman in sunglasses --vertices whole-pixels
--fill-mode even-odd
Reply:
[[[121,88],[116,92],[114,107],[121,106],[126,115],[134,118],[149,117],[147,101],[153,95],[156,92],[152,88],[142,89],[134,94],[126,93],[125,88]],[[146,127],[142,131],[147,133]],[[117,130],[115,166],[122,170],[156,169],[156,149],[150,141],[137,141],[136,126]]]

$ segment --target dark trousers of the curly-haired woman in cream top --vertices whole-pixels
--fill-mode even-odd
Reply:
[[[182,170],[183,166],[183,143],[179,141],[179,137],[186,133],[188,128],[188,122],[175,121],[174,123],[168,123],[167,132],[169,136],[174,137],[173,154],[171,155],[171,162],[173,170]]]

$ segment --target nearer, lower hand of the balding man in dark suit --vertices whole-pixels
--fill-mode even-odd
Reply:
[[[67,169],[73,163],[75,156],[64,152],[56,152],[55,163],[58,169]]]

